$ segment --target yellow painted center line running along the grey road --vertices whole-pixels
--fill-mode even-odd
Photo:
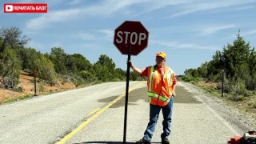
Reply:
[[[129,89],[129,93],[130,91],[136,89],[138,86],[141,86],[144,82],[139,83],[136,86],[133,86]],[[58,144],[63,144],[65,143],[67,140],[69,140],[70,138],[72,138],[74,136],[74,134],[78,133],[78,131],[82,130],[83,127],[85,127],[88,123],[90,123],[92,120],[94,120],[94,118],[97,118],[99,114],[102,114],[102,112],[104,112],[105,110],[107,110],[110,106],[112,106],[115,102],[118,102],[118,100],[120,100],[122,97],[126,96],[126,92],[123,92],[121,96],[119,96],[118,98],[114,99],[114,101],[110,102],[107,106],[105,106],[104,108],[102,108],[102,110],[97,110],[98,111],[96,114],[92,115],[90,118],[86,119],[85,122],[82,122],[82,124],[80,126],[78,126],[76,129],[72,130],[72,132],[70,132],[70,134],[67,134],[64,138],[62,138]],[[98,108],[99,109],[99,108]],[[93,111],[94,113],[96,111]],[[92,113],[92,112],[91,112]]]

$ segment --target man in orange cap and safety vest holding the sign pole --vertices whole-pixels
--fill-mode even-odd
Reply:
[[[162,143],[170,143],[171,117],[174,104],[176,88],[176,75],[170,67],[165,66],[166,54],[159,52],[156,54],[156,65],[147,66],[146,69],[138,69],[130,62],[130,67],[140,74],[147,77],[148,98],[150,102],[150,122],[144,132],[144,137],[136,143],[151,143],[155,126],[158,122],[158,115],[162,109],[163,133],[161,134]]]

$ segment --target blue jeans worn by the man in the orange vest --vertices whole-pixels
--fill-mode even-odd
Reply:
[[[143,139],[145,139],[146,141],[151,141],[152,136],[154,134],[155,126],[158,122],[158,117],[161,109],[162,109],[162,115],[163,115],[163,121],[162,121],[163,133],[161,134],[161,138],[162,139],[169,138],[173,105],[174,105],[174,97],[172,97],[170,99],[170,102],[164,107],[154,106],[150,104],[150,122],[146,127]]]

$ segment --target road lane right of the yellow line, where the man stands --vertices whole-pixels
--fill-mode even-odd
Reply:
[[[171,143],[221,144],[234,135],[243,134],[243,130],[238,128],[240,126],[246,129],[242,123],[222,118],[218,114],[218,110],[225,111],[221,106],[218,110],[212,109],[199,95],[186,90],[183,85],[182,82],[178,83],[177,97],[174,100]],[[108,99],[105,98],[104,101]],[[66,143],[122,143],[124,106],[125,98],[122,98]],[[232,113],[226,111],[226,114],[230,114],[229,118],[234,118]],[[126,143],[134,143],[142,138],[149,120],[146,85],[130,92],[127,117]],[[159,115],[152,143],[161,142],[161,133],[162,114]]]

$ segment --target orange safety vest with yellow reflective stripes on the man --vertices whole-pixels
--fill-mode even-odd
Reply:
[[[165,66],[165,73],[162,77],[158,70],[155,71],[155,66],[149,66],[148,70],[148,102],[152,105],[166,106],[173,95],[174,71]]]

